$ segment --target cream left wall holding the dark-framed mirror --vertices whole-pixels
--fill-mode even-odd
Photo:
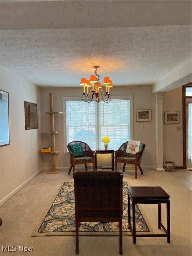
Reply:
[[[0,89],[9,92],[10,145],[0,147],[0,204],[14,195],[41,169],[38,129],[25,130],[24,101],[38,104],[40,88],[0,67]],[[29,179],[29,180],[28,180]]]

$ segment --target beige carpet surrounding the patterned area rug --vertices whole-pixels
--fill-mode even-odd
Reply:
[[[65,160],[65,155],[64,155]],[[13,172],[16,171],[13,169]],[[133,244],[132,236],[123,236],[123,256],[191,256],[191,191],[173,176],[186,175],[187,170],[159,172],[143,170],[135,179],[134,170],[124,172],[123,181],[131,186],[161,186],[170,195],[171,243],[159,237],[139,237]],[[0,255],[2,256],[74,256],[75,236],[31,236],[35,226],[45,213],[48,204],[64,182],[73,182],[68,170],[48,175],[41,172],[30,183],[0,207]],[[140,208],[140,205],[138,205]],[[143,204],[141,213],[150,220],[154,232],[158,229],[158,207]],[[145,218],[145,215],[144,219]],[[162,223],[166,225],[166,205],[162,204]],[[147,222],[148,223],[148,222]],[[149,227],[150,229],[150,227]],[[151,229],[150,229],[151,230]],[[2,252],[2,245],[33,246],[33,251]],[[118,236],[80,236],[79,250],[82,256],[119,256]]]

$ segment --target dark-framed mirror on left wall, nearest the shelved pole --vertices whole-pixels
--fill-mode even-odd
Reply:
[[[37,129],[37,104],[25,101],[25,130]]]

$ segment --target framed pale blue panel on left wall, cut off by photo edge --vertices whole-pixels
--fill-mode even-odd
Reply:
[[[9,93],[0,89],[0,147],[9,145]]]

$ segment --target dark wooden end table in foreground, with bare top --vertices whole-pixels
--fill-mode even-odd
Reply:
[[[133,243],[136,243],[136,237],[167,237],[167,243],[170,243],[170,201],[169,195],[161,187],[128,187],[128,223],[133,234]],[[131,226],[131,205],[133,212],[133,227]],[[136,235],[135,229],[135,204],[158,204],[158,228],[165,231],[166,234]],[[161,204],[167,205],[167,229],[161,223]]]

